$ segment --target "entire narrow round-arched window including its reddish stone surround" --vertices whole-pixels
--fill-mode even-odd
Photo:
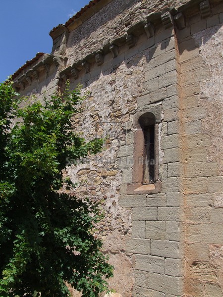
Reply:
[[[127,194],[159,193],[158,144],[161,106],[136,113],[134,118],[134,152],[132,183]]]

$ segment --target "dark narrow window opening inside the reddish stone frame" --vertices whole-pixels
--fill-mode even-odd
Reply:
[[[155,182],[155,126],[143,127],[144,134],[144,162],[143,184]]]

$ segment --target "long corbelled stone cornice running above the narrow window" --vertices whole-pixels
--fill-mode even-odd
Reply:
[[[109,52],[111,52],[112,57],[115,58],[116,56],[118,56],[119,48],[123,45],[126,44],[129,49],[134,47],[136,45],[136,38],[138,36],[146,34],[148,39],[154,38],[156,28],[160,25],[163,25],[165,29],[171,27],[177,28],[177,30],[184,29],[186,26],[184,11],[191,8],[194,9],[194,6],[197,6],[197,9],[200,8],[200,14],[202,17],[204,15],[209,16],[209,0],[192,0],[189,3],[187,3],[186,5],[182,5],[179,9],[169,7],[160,12],[150,13],[146,17],[146,20],[141,20],[140,22],[131,26],[123,36],[111,40],[110,43],[103,45],[101,49],[92,52],[85,58],[75,61],[72,65],[69,65],[67,68],[63,69],[62,72],[60,72],[60,77],[64,77],[64,75],[66,74],[67,78],[73,77],[76,80],[79,77],[80,71],[82,69],[85,70],[85,73],[88,73],[90,72],[91,64],[96,63],[97,65],[102,65],[104,56]],[[151,44],[151,46],[152,45],[153,44]],[[91,59],[89,57],[91,57]],[[84,61],[88,62],[87,71]]]

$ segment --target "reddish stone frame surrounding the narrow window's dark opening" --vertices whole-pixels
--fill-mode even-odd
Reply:
[[[142,115],[151,114],[155,117],[155,180],[154,183],[143,184],[143,162],[144,158],[144,133],[139,119]],[[133,173],[132,183],[127,184],[127,195],[134,194],[155,194],[162,190],[162,183],[159,180],[159,123],[162,121],[161,105],[137,112],[134,116],[134,151],[133,151]]]

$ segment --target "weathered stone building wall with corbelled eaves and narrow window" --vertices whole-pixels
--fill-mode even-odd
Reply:
[[[222,24],[223,0],[93,0],[13,75],[89,92],[74,129],[107,140],[67,174],[106,212],[115,296],[223,296]]]

